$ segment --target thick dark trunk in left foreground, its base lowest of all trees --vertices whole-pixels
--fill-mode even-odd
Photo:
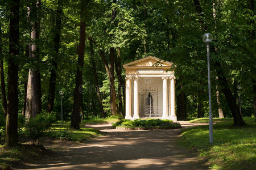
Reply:
[[[7,80],[7,116],[5,145],[18,145],[18,55],[19,55],[19,0],[11,0],[9,27],[9,54]]]

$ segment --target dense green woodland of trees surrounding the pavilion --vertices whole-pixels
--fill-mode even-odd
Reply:
[[[18,114],[44,111],[79,129],[81,115],[125,115],[123,64],[155,56],[175,65],[179,120],[256,117],[255,7],[247,1],[0,0],[0,114],[6,145],[18,144]]]

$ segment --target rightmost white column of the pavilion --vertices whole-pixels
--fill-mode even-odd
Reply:
[[[176,112],[175,112],[175,77],[172,76],[170,78],[170,86],[171,86],[171,92],[170,92],[170,99],[171,99],[171,116],[170,119],[172,121],[177,121],[177,116],[176,116]]]

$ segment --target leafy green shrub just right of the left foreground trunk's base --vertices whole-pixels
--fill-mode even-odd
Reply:
[[[35,118],[29,118],[26,120],[25,129],[27,136],[31,139],[32,145],[35,145],[36,141],[39,143],[39,138],[42,138],[44,131],[49,129],[51,124],[56,121],[53,114],[38,114]]]

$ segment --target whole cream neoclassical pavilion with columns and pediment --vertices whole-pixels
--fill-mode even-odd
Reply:
[[[148,56],[123,65],[126,71],[125,118],[177,121],[172,62]]]

